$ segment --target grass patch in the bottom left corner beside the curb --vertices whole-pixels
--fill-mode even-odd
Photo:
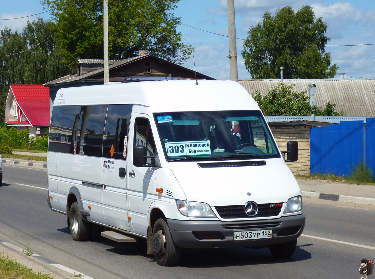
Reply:
[[[54,276],[44,272],[34,272],[28,267],[14,261],[4,253],[0,254],[0,279],[53,279]]]

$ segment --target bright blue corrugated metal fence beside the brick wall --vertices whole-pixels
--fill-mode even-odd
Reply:
[[[375,118],[311,128],[311,173],[349,175],[363,160],[375,171]]]

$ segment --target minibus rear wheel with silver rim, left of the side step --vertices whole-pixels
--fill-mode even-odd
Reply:
[[[76,241],[85,241],[90,236],[90,223],[82,219],[78,203],[73,203],[69,211],[69,224],[71,234]]]

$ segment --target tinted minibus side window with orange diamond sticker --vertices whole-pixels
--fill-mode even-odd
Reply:
[[[103,157],[126,159],[132,105],[109,105],[104,129]],[[111,149],[113,146],[113,152]]]

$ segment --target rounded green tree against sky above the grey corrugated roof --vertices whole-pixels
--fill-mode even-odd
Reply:
[[[254,79],[279,77],[280,67],[284,67],[285,79],[334,77],[339,68],[336,64],[329,67],[327,27],[322,18],[315,17],[311,6],[297,12],[287,6],[273,17],[264,13],[263,21],[249,29],[243,45],[246,69]]]

